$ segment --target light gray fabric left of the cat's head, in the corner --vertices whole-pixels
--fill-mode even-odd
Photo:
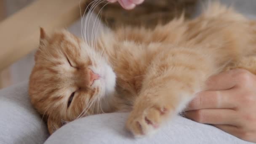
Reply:
[[[0,144],[43,144],[46,125],[29,102],[27,83],[0,91]]]

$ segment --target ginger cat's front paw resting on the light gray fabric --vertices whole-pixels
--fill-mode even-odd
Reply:
[[[135,137],[142,137],[155,133],[160,125],[167,119],[170,108],[165,106],[153,105],[144,110],[133,109],[126,128],[131,131]]]

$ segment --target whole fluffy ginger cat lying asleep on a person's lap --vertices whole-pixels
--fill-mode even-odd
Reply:
[[[256,23],[219,3],[193,20],[123,27],[95,43],[41,29],[29,95],[50,133],[80,117],[131,111],[125,127],[146,136],[182,112],[211,75],[256,73],[254,54]]]

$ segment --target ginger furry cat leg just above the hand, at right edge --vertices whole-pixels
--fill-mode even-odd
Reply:
[[[225,71],[231,69],[246,69],[256,75],[256,56],[247,56],[227,65]]]

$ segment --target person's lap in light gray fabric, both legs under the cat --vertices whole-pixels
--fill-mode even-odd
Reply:
[[[29,102],[27,83],[0,91],[0,143],[42,144],[47,127]],[[125,130],[128,113],[94,115],[64,125],[45,144],[249,144],[211,125],[175,117],[155,135],[134,139]]]

